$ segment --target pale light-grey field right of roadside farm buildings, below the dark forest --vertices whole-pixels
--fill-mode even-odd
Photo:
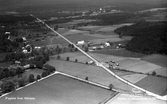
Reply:
[[[134,59],[124,59],[121,61],[117,61],[120,64],[120,68],[135,71],[135,72],[142,72],[148,73],[154,69],[161,68],[158,65],[142,61],[142,60],[134,60]]]

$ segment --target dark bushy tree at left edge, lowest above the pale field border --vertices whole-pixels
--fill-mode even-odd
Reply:
[[[15,90],[15,84],[11,81],[4,82],[1,85],[2,93],[8,93]]]

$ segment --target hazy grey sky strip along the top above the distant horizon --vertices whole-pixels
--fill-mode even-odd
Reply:
[[[43,6],[52,5],[56,6],[59,4],[72,4],[78,3],[77,5],[83,5],[84,3],[89,5],[108,5],[110,4],[124,4],[124,3],[136,3],[136,4],[164,4],[167,0],[0,0],[0,10],[3,8],[24,8],[27,6]]]

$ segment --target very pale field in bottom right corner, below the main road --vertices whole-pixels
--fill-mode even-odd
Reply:
[[[109,100],[106,104],[166,104],[166,101],[150,97],[119,94],[116,98]]]

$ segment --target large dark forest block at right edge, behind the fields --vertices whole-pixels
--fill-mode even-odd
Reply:
[[[167,54],[167,22],[140,22],[118,28],[115,32],[121,36],[134,36],[126,45],[127,50],[143,54]]]

